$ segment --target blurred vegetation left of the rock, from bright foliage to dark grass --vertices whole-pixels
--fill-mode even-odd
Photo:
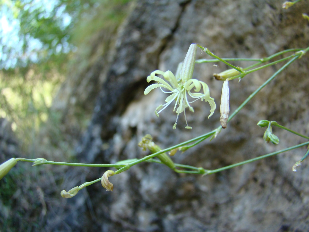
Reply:
[[[14,132],[19,156],[74,160],[74,145],[91,117],[93,102],[88,109],[74,109],[73,122],[68,122],[64,111],[69,106],[53,107],[55,96],[68,78],[83,78],[80,74],[108,53],[132,2],[0,1],[0,118]],[[2,154],[0,161],[11,155]],[[22,164],[12,170],[0,182],[0,225],[7,231],[42,228],[46,204],[52,204],[53,195],[59,200],[60,192],[53,187],[63,182],[65,169],[53,167],[51,174],[50,167]],[[37,205],[34,199],[43,192],[49,197],[41,197]]]

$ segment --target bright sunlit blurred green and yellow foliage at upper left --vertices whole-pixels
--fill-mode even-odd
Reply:
[[[2,33],[1,41],[12,37],[16,42],[0,45],[0,117],[13,122],[12,129],[23,141],[24,150],[47,122],[52,124],[49,129],[59,136],[55,138],[63,139],[61,131],[56,129],[61,117],[50,111],[53,96],[69,67],[81,67],[74,62],[84,62],[83,67],[89,65],[91,40],[95,40],[101,30],[115,33],[126,15],[123,6],[128,2],[1,2],[2,16],[15,25],[14,33]],[[76,51],[79,59],[74,59]]]

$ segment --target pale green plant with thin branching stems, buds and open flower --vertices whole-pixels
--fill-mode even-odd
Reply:
[[[297,1],[290,2],[290,3],[285,3],[286,6],[292,6],[294,5]],[[285,6],[285,5],[284,5]],[[199,59],[195,60],[196,58],[196,50],[197,47],[201,49],[201,51],[205,52],[206,54],[210,55],[214,59]],[[115,164],[84,164],[84,163],[68,163],[68,162],[55,162],[55,161],[47,161],[43,158],[37,158],[37,159],[26,159],[26,158],[12,158],[2,165],[0,165],[0,178],[4,177],[5,174],[9,172],[11,168],[13,168],[18,161],[27,161],[27,162],[32,162],[33,166],[36,165],[44,165],[44,164],[51,164],[51,165],[68,165],[68,166],[85,166],[85,167],[108,167],[108,168],[115,168],[116,170],[107,170],[104,172],[103,176],[101,178],[98,178],[96,180],[93,180],[91,182],[86,182],[83,183],[80,186],[76,186],[72,189],[70,189],[68,192],[65,190],[61,191],[61,196],[65,198],[71,198],[74,195],[78,193],[78,191],[84,187],[87,187],[93,183],[101,181],[102,186],[106,188],[107,191],[112,191],[113,190],[113,184],[109,181],[109,177],[120,174],[121,172],[124,172],[130,167],[137,165],[142,162],[154,162],[154,163],[159,163],[159,164],[164,164],[174,170],[177,173],[188,173],[188,174],[202,174],[202,175],[209,175],[209,174],[214,174],[223,170],[231,169],[236,166],[248,164],[253,161],[261,160],[270,156],[274,156],[280,153],[284,153],[287,151],[291,151],[296,148],[300,148],[303,146],[308,146],[309,141],[304,142],[302,144],[297,144],[294,146],[290,146],[285,149],[281,149],[276,152],[268,153],[259,157],[255,157],[253,159],[245,160],[236,164],[228,165],[225,167],[221,167],[218,169],[214,170],[207,170],[204,169],[203,167],[194,167],[191,165],[183,165],[183,164],[177,164],[172,161],[172,159],[167,155],[167,152],[169,152],[170,156],[175,155],[177,151],[185,152],[189,148],[192,148],[193,146],[196,146],[197,144],[201,143],[202,141],[210,138],[210,140],[215,139],[220,132],[222,131],[223,128],[226,127],[226,125],[231,121],[232,118],[234,118],[240,110],[258,93],[260,92],[261,89],[263,89],[267,84],[272,82],[278,74],[280,74],[286,67],[288,67],[291,63],[296,61],[299,58],[302,58],[303,55],[305,55],[309,50],[309,47],[305,49],[286,49],[281,52],[278,52],[276,54],[273,54],[269,57],[266,58],[261,58],[261,59],[251,59],[251,58],[220,58],[216,56],[214,53],[210,52],[209,49],[202,47],[201,45],[198,44],[192,44],[189,47],[188,53],[184,59],[184,62],[181,63],[178,66],[178,69],[176,71],[176,75],[174,75],[171,71],[153,71],[148,77],[147,81],[156,81],[156,84],[151,84],[148,86],[145,90],[145,94],[148,94],[151,90],[155,88],[160,88],[162,92],[171,94],[166,98],[166,104],[160,105],[157,107],[155,114],[159,116],[159,113],[162,112],[168,105],[170,105],[173,101],[175,102],[174,105],[174,111],[176,110],[177,118],[176,122],[173,126],[173,129],[176,128],[176,123],[177,119],[180,113],[184,112],[185,115],[185,109],[189,108],[190,111],[194,112],[193,107],[190,105],[190,101],[188,101],[187,94],[192,97],[193,101],[201,99],[202,101],[208,101],[211,106],[210,110],[210,115],[209,117],[213,114],[213,111],[215,110],[215,102],[214,99],[210,97],[210,90],[209,87],[206,83],[197,80],[197,79],[192,79],[192,74],[194,70],[195,64],[200,64],[200,63],[209,63],[209,62],[223,62],[231,69],[228,69],[226,71],[223,71],[219,74],[214,74],[214,77],[217,80],[222,80],[224,81],[223,86],[222,86],[222,97],[221,97],[221,106],[220,106],[220,122],[221,126],[218,128],[209,131],[203,135],[197,136],[193,139],[187,140],[185,142],[182,142],[180,144],[176,144],[174,146],[171,146],[169,148],[161,149],[155,142],[152,140],[151,135],[145,135],[142,138],[142,141],[138,144],[138,146],[142,147],[143,150],[150,150],[151,154],[147,155],[141,159],[134,158],[134,159],[129,159],[129,160],[123,160],[123,161],[118,161]],[[290,53],[290,55],[287,55],[284,58],[278,58],[282,57],[286,54]],[[229,61],[252,61],[255,62],[254,64],[248,66],[248,67],[235,67],[229,63]],[[269,62],[269,63],[266,63]],[[269,79],[267,79],[260,87],[258,87],[254,92],[250,94],[250,96],[243,101],[242,104],[239,105],[239,107],[230,115],[229,111],[229,88],[228,88],[228,81],[231,81],[233,79],[239,79],[239,81],[245,77],[246,75],[254,72],[261,70],[263,68],[278,64],[280,62],[286,62],[281,68],[279,68]],[[159,78],[155,76],[156,74],[163,75],[163,78],[166,79],[170,84],[168,84],[165,80],[162,78]],[[163,90],[162,88],[165,88],[169,90],[169,92]],[[196,93],[192,93],[191,90],[194,88],[194,91]],[[201,93],[199,93],[200,90],[203,90]],[[178,107],[177,107],[178,105]],[[177,108],[177,109],[176,109]],[[158,112],[159,110],[159,112]],[[186,119],[186,116],[185,116]],[[186,120],[187,126],[185,128],[191,129],[192,127],[188,126],[187,120]],[[276,126],[279,127],[283,130],[286,130],[290,133],[293,133],[295,135],[301,136],[307,140],[309,140],[308,136],[302,135],[296,131],[293,131],[291,129],[288,129],[280,124],[278,124],[275,121],[269,121],[269,120],[260,120],[257,123],[258,126],[260,127],[266,127],[266,131],[264,133],[264,140],[266,143],[273,143],[273,144],[278,144],[279,143],[279,138],[273,134],[272,132],[272,127]],[[296,168],[301,165],[301,163],[304,161],[304,159],[308,156],[309,154],[309,149],[307,150],[306,154],[297,161],[294,166],[292,167],[292,170],[295,172]],[[156,157],[158,159],[156,159]]]

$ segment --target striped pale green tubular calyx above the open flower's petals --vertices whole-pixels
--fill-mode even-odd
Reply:
[[[189,79],[192,79],[195,65],[196,49],[197,45],[191,44],[188,49],[187,55],[184,58],[184,62],[182,63],[179,75],[182,84],[185,84]]]

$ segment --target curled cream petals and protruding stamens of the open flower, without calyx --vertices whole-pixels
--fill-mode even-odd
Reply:
[[[162,78],[159,78],[158,76],[156,76],[156,74],[163,75],[164,79],[166,79],[170,84],[168,84]],[[190,105],[190,103],[197,101],[199,99],[201,99],[202,101],[205,100],[210,104],[211,110],[210,110],[210,115],[208,116],[208,118],[210,118],[210,116],[213,115],[214,110],[216,109],[216,104],[214,102],[214,98],[210,97],[209,88],[206,83],[199,81],[197,79],[188,79],[185,83],[182,83],[181,79],[177,81],[176,77],[171,71],[163,72],[160,70],[153,71],[150,74],[150,76],[147,77],[147,82],[150,82],[152,80],[156,81],[157,83],[151,84],[150,86],[148,86],[145,89],[145,92],[144,92],[145,95],[155,88],[160,88],[161,91],[164,93],[171,93],[171,95],[165,99],[166,103],[164,105],[159,105],[157,109],[155,110],[155,114],[158,117],[159,117],[159,113],[162,110],[164,110],[168,105],[170,105],[174,100],[176,100],[173,111],[176,110],[177,118],[173,126],[173,129],[176,128],[178,116],[182,112],[184,112],[184,118],[187,124],[187,127],[185,128],[186,129],[192,128],[188,126],[185,109],[188,107],[190,111],[194,112],[194,109]],[[195,92],[192,93],[191,90],[194,87],[195,87],[194,89]],[[163,88],[167,89],[167,91],[163,90]],[[202,93],[198,93],[201,90],[201,88],[203,88]],[[191,98],[193,98],[193,101],[188,101],[187,94]]]

